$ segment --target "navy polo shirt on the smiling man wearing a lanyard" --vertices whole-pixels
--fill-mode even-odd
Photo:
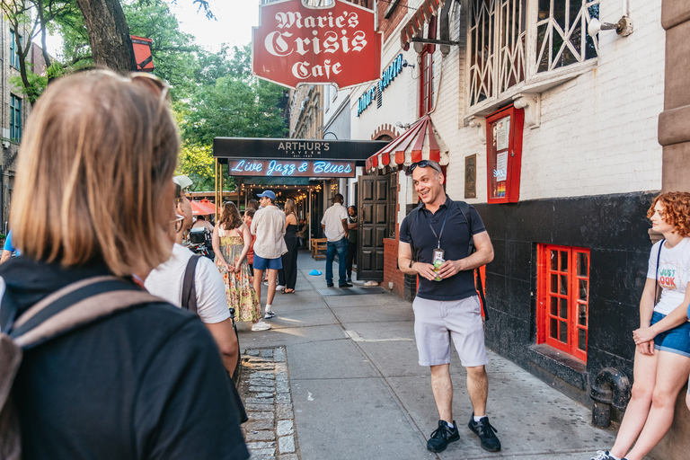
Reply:
[[[486,230],[482,217],[472,205],[470,205],[470,216],[472,217],[472,233],[467,220],[463,216],[460,207],[449,199],[446,195],[446,202],[438,208],[436,213],[432,213],[425,205],[415,213],[416,217],[410,219],[408,215],[400,225],[400,241],[411,243],[417,252],[417,261],[433,263],[433,251],[438,246],[438,240],[434,236],[429,224],[436,234],[441,235],[441,249],[446,253],[444,259],[447,261],[457,261],[467,257],[467,249],[472,234],[480,234]],[[441,226],[447,218],[446,227],[441,234]],[[414,255],[414,254],[412,254]],[[462,300],[470,296],[476,296],[474,288],[473,270],[464,270],[456,275],[441,279],[440,281],[429,281],[424,277],[420,280],[417,296],[429,300]]]

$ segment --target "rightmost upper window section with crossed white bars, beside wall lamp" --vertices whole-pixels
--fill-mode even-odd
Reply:
[[[597,57],[597,38],[587,24],[599,17],[599,0],[539,0],[537,14],[536,72]]]

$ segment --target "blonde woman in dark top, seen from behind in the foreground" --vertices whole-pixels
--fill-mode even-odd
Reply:
[[[31,111],[12,197],[22,257],[0,265],[0,330],[74,327],[23,349],[22,458],[249,457],[208,330],[143,288],[178,222],[166,94],[154,75],[89,70],[49,84]],[[80,323],[89,310],[102,314]]]

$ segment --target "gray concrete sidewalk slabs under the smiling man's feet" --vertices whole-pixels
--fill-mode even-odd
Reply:
[[[241,349],[285,347],[296,448],[303,460],[588,460],[613,445],[615,433],[593,428],[588,408],[490,351],[487,411],[503,449],[482,450],[466,427],[472,406],[454,352],[453,413],[460,440],[441,454],[429,452],[427,438],[437,428],[438,412],[429,367],[417,363],[411,303],[358,281],[350,291],[365,294],[326,288],[323,275],[308,274],[325,272],[325,262],[305,251],[297,266],[296,294],[276,294],[278,316],[267,320],[273,328],[238,327]],[[333,271],[337,278],[337,263]],[[261,305],[266,289],[262,286]]]

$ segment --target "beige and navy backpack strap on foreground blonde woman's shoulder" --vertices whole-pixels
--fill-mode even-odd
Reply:
[[[14,323],[10,336],[23,349],[134,305],[164,302],[116,277],[84,279],[33,305]]]

